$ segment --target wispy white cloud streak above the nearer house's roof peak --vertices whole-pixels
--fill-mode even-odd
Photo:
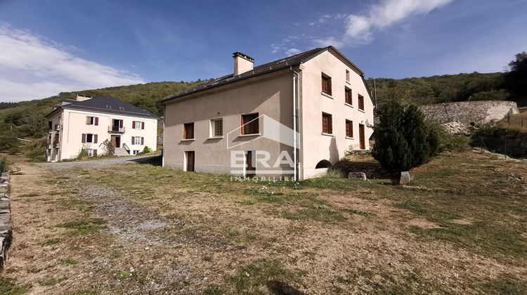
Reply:
[[[427,15],[436,8],[445,6],[453,0],[382,0],[373,4],[362,15],[351,14],[345,20],[345,34],[339,45],[367,44],[373,39],[376,29],[384,29],[416,15]],[[315,39],[319,46],[330,45],[335,37]],[[337,45],[338,44],[332,44]]]

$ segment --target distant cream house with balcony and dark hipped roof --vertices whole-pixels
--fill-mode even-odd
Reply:
[[[46,117],[48,162],[73,159],[81,150],[96,156],[136,155],[146,146],[157,149],[157,117],[112,96],[64,100]],[[105,140],[112,144],[109,149]]]

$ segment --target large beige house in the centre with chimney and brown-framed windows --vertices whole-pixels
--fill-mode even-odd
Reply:
[[[306,179],[348,150],[370,149],[374,102],[364,73],[333,46],[234,72],[163,100],[163,165]]]

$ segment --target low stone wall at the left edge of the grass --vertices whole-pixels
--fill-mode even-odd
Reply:
[[[9,173],[2,173],[0,177],[0,271],[4,270],[7,251],[13,239],[9,178]]]

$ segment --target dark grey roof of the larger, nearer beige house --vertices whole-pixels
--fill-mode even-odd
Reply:
[[[188,94],[191,94],[191,93],[204,91],[206,89],[212,89],[212,88],[214,88],[216,86],[221,86],[221,85],[233,83],[235,81],[240,81],[242,79],[255,77],[255,76],[258,76],[260,74],[267,74],[269,72],[275,72],[275,71],[282,70],[282,69],[285,69],[285,68],[288,68],[288,67],[292,67],[292,66],[295,66],[295,65],[300,65],[301,63],[306,63],[306,61],[311,60],[311,58],[314,58],[315,56],[319,55],[320,53],[323,53],[324,51],[327,51],[327,50],[330,50],[330,49],[332,51],[334,51],[335,53],[337,53],[338,55],[340,55],[342,58],[344,58],[344,60],[346,60],[351,65],[353,70],[356,70],[362,76],[364,75],[363,71],[360,70],[355,64],[353,64],[351,62],[351,60],[346,58],[346,56],[344,56],[344,54],[342,54],[340,51],[338,51],[337,48],[334,48],[333,46],[327,46],[327,47],[323,47],[323,48],[314,48],[314,49],[311,49],[309,51],[304,51],[302,53],[298,53],[296,55],[289,56],[287,58],[280,58],[279,60],[274,60],[271,63],[266,63],[266,64],[263,64],[263,65],[259,65],[257,67],[254,67],[254,69],[252,71],[245,72],[245,73],[242,73],[242,74],[239,74],[239,75],[228,74],[228,75],[220,77],[218,79],[214,79],[214,80],[209,81],[207,83],[195,86],[192,89],[187,89],[186,91],[177,93],[174,96],[169,96],[168,98],[165,98],[164,100],[162,100],[162,102],[164,103],[164,102],[166,102],[168,100],[172,100],[174,98],[180,98],[182,96],[187,96]]]

